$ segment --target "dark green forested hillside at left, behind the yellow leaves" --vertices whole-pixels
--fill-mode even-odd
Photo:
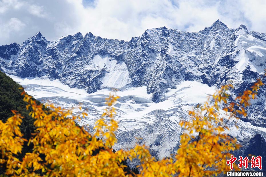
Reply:
[[[23,101],[24,96],[21,95],[22,90],[19,89],[20,87],[22,86],[0,71],[0,120],[6,122],[9,117],[13,116],[11,110],[17,110],[24,117],[20,126],[21,133],[24,134],[23,138],[29,140],[35,130],[35,126],[33,125],[34,119],[29,116],[31,109],[26,109],[27,103]],[[35,101],[38,105],[40,104],[39,101]],[[43,106],[43,109],[47,110],[48,108]],[[28,142],[24,143],[23,151],[18,157],[21,161],[27,152],[32,152],[33,145],[30,144],[28,146],[27,143]],[[99,150],[95,150],[93,155],[98,153]],[[127,161],[123,160],[121,164],[127,166]],[[132,174],[129,167],[124,168],[124,171],[128,174]],[[3,174],[4,172],[5,168],[0,166],[0,174]],[[134,168],[133,172],[136,174],[139,173],[137,168]]]

